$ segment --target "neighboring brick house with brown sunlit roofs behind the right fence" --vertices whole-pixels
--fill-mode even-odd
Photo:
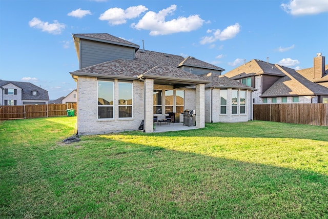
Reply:
[[[224,75],[256,88],[252,97],[254,104],[327,103],[328,87],[323,85],[328,76],[324,74],[324,65],[319,66],[318,71],[314,71],[315,68],[302,71],[253,59]],[[310,72],[315,79],[305,77]]]

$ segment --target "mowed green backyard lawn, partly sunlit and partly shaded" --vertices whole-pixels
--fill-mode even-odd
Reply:
[[[0,123],[0,218],[328,218],[328,127],[251,121],[81,136]]]

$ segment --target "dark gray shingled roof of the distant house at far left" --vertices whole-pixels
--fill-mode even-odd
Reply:
[[[29,82],[3,81],[0,79],[0,87],[13,84],[22,89],[22,99],[49,101],[48,91]],[[33,96],[32,91],[37,91],[38,95]]]

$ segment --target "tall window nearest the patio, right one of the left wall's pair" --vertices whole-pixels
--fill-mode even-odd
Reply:
[[[132,83],[118,83],[118,117],[132,118]]]

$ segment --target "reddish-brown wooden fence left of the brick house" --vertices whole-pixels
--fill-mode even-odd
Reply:
[[[24,106],[0,106],[0,120],[18,120],[23,118],[40,118],[67,115],[67,109],[74,109],[76,104],[46,104]]]

